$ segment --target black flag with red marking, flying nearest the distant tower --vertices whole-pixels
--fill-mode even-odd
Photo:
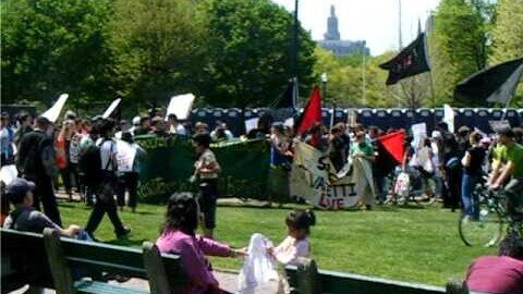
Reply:
[[[425,50],[425,34],[419,34],[393,59],[379,64],[379,68],[389,71],[387,85],[393,85],[402,78],[430,71]]]

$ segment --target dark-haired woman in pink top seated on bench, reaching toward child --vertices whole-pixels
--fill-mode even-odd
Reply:
[[[199,236],[199,208],[190,193],[174,194],[169,198],[166,222],[156,245],[161,253],[178,254],[182,257],[183,270],[188,282],[174,293],[222,293],[218,281],[212,275],[212,268],[205,257],[243,256],[244,250],[232,249],[226,244]]]

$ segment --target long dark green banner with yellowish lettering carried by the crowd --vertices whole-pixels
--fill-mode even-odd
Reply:
[[[191,140],[155,135],[135,139],[147,152],[139,161],[141,199],[163,201],[174,192],[196,191],[197,185],[188,182],[196,159]],[[267,140],[212,144],[210,149],[222,168],[219,179],[221,197],[265,199],[270,166]]]

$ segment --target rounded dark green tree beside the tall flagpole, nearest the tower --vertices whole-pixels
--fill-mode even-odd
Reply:
[[[205,0],[209,63],[203,96],[211,106],[267,107],[285,89],[291,73],[293,17],[270,0]],[[307,96],[315,42],[300,28],[299,77]]]

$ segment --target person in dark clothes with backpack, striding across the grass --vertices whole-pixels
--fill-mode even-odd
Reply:
[[[118,184],[117,143],[112,139],[114,121],[104,119],[98,122],[97,128],[100,138],[95,146],[98,148],[99,161],[95,159],[96,161],[92,162],[95,164],[86,174],[86,177],[97,183],[95,189],[96,203],[90,212],[85,231],[94,238],[94,232],[107,213],[114,226],[117,237],[123,237],[131,232],[131,229],[124,226],[120,220],[114,200]],[[95,147],[92,147],[90,152],[95,150],[94,148]],[[98,170],[98,172],[96,172],[96,170]]]

